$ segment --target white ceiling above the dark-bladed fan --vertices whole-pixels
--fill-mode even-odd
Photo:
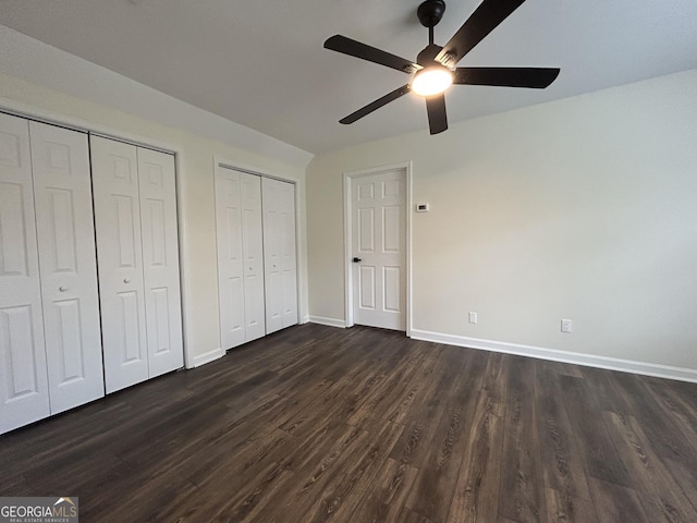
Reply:
[[[418,131],[405,96],[338,120],[405,74],[322,48],[334,34],[412,59],[420,0],[0,0],[0,23],[313,154]],[[447,0],[444,45],[480,0]],[[697,0],[527,0],[460,65],[559,66],[547,89],[453,86],[451,123],[697,68]],[[437,139],[433,137],[432,139]]]

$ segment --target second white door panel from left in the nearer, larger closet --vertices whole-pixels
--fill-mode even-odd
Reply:
[[[29,122],[51,413],[105,396],[87,135]]]

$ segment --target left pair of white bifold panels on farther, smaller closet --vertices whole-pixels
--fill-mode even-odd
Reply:
[[[260,178],[219,167],[216,214],[220,333],[227,350],[266,331]]]

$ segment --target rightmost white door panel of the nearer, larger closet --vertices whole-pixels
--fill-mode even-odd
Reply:
[[[184,365],[174,157],[138,147],[149,376]]]

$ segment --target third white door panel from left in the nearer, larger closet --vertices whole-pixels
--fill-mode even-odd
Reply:
[[[107,392],[148,379],[136,147],[90,139]]]

